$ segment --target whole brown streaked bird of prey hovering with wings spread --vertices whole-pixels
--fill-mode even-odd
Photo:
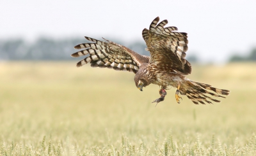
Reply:
[[[168,23],[163,20],[159,24],[159,17],[150,24],[149,30],[143,29],[142,36],[147,44],[150,57],[140,55],[129,48],[112,41],[99,41],[88,38],[92,43],[82,43],[75,46],[83,48],[73,53],[72,57],[85,55],[85,59],[77,63],[77,67],[90,63],[92,67],[108,67],[119,71],[135,73],[134,82],[138,89],[150,83],[159,85],[161,97],[153,101],[159,103],[164,100],[168,86],[177,88],[175,99],[180,103],[179,96],[187,96],[195,104],[220,103],[213,97],[223,97],[229,90],[216,89],[204,83],[193,82],[184,75],[191,73],[191,64],[185,59],[188,50],[188,36],[185,32],[177,32],[177,27],[164,27]],[[104,39],[104,38],[103,38]],[[224,97],[225,98],[225,97]],[[210,101],[211,100],[211,101]]]

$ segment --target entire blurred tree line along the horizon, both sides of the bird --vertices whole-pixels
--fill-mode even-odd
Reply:
[[[125,45],[142,55],[150,55],[149,52],[145,51],[146,44],[143,41],[129,43],[120,41],[120,39],[111,40]],[[0,60],[74,60],[74,58],[70,57],[70,54],[78,51],[74,49],[74,46],[79,43],[86,43],[86,41],[84,38],[39,38],[34,43],[28,43],[24,39],[1,39]],[[189,62],[198,62],[198,57],[191,53],[187,55],[186,59]],[[229,62],[241,61],[256,61],[256,48],[253,48],[247,57],[232,55],[229,59]]]

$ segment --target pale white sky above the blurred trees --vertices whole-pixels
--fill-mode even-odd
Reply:
[[[255,0],[1,0],[0,39],[90,36],[143,41],[142,30],[158,16],[168,20],[166,26],[188,33],[187,55],[223,62],[231,53],[246,55],[256,46],[255,10]]]

